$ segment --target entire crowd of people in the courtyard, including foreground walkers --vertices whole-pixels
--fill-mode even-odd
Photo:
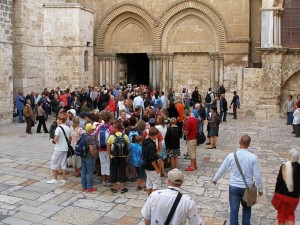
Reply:
[[[53,138],[53,179],[48,181],[49,184],[65,184],[68,166],[74,168],[75,176],[81,177],[82,190],[86,192],[97,191],[93,182],[95,173],[102,177],[103,186],[110,187],[112,193],[120,191],[124,194],[129,191],[126,182],[136,181],[136,191],[144,190],[148,196],[151,195],[142,210],[145,224],[152,224],[153,221],[164,224],[169,217],[173,218],[173,222],[178,221],[173,224],[180,224],[186,218],[189,218],[190,224],[201,224],[195,202],[177,194],[180,193],[180,186],[184,182],[184,175],[178,170],[180,139],[186,140],[185,157],[190,160],[190,165],[185,171],[197,170],[198,135],[207,131],[207,148],[217,148],[219,125],[227,121],[228,108],[233,107],[233,119],[237,119],[239,96],[234,91],[228,104],[225,93],[222,84],[215,92],[209,88],[203,99],[198,87],[195,87],[191,94],[187,89],[183,89],[177,96],[172,89],[165,96],[163,91],[150,90],[145,85],[89,86],[80,91],[76,88],[73,91],[62,91],[58,87],[50,92],[44,89],[42,96],[32,92],[24,97],[23,93],[19,92],[16,107],[20,123],[24,122],[23,116],[25,117],[28,134],[32,133],[31,127],[38,120],[37,133],[40,133],[43,127],[44,132],[49,132]],[[287,107],[289,109],[294,106],[289,103]],[[298,108],[293,110],[292,122],[288,114],[288,124],[300,124]],[[45,121],[51,113],[56,117],[56,121],[47,129]],[[296,136],[298,129],[294,126]],[[85,154],[73,155],[67,159],[68,144],[70,143],[76,152],[82,137],[85,138]],[[242,197],[247,187],[253,185],[254,178],[259,194],[263,194],[258,158],[249,151],[250,142],[251,138],[244,135],[240,140],[240,148],[235,154],[229,154],[225,158],[212,180],[216,184],[226,170],[231,169],[231,225],[238,224],[240,204],[243,206],[243,225],[250,224],[251,206],[248,206]],[[240,162],[243,174],[235,157]],[[291,150],[288,158],[290,163],[282,166],[277,178],[276,196],[281,199],[281,205],[277,209],[279,224],[293,224],[295,221],[293,215],[300,195],[298,160],[298,152]],[[156,192],[161,189],[161,179],[166,176],[166,167],[170,167],[167,175],[169,188]],[[62,180],[58,180],[59,171],[62,172]],[[285,184],[288,188],[283,187]],[[176,203],[177,198],[182,198],[180,203]],[[171,215],[172,210],[168,207],[159,207],[160,201],[170,202],[170,205],[172,202],[181,205],[177,210],[181,210],[182,214]],[[290,204],[291,202],[293,204]],[[173,205],[176,205],[175,203]],[[157,207],[153,207],[154,204]]]

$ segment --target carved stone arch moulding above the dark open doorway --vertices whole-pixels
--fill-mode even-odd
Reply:
[[[131,13],[143,18],[143,20],[147,23],[147,25],[151,28],[151,32],[153,31],[154,27],[154,20],[152,17],[142,8],[136,5],[122,5],[112,12],[110,12],[101,23],[101,26],[98,31],[97,35],[97,45],[98,45],[98,52],[104,52],[104,39],[106,36],[106,32],[110,24],[119,16],[124,15],[126,13]],[[125,18],[124,18],[125,19]]]

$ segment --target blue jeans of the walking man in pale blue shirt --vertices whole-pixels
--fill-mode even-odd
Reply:
[[[245,188],[229,186],[230,225],[239,225],[240,204],[243,206],[242,225],[251,225],[251,207],[242,200]]]

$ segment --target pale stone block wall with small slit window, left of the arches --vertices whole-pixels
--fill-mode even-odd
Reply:
[[[66,88],[93,82],[93,12],[65,2],[14,1],[15,92],[24,89],[26,94],[44,87]]]

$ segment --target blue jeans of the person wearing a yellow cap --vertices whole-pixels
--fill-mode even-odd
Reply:
[[[81,185],[83,188],[92,189],[94,179],[94,158],[81,157]]]

